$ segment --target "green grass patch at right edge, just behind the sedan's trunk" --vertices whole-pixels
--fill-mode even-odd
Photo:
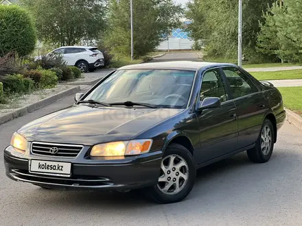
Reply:
[[[302,87],[279,87],[283,97],[284,106],[302,116]]]

